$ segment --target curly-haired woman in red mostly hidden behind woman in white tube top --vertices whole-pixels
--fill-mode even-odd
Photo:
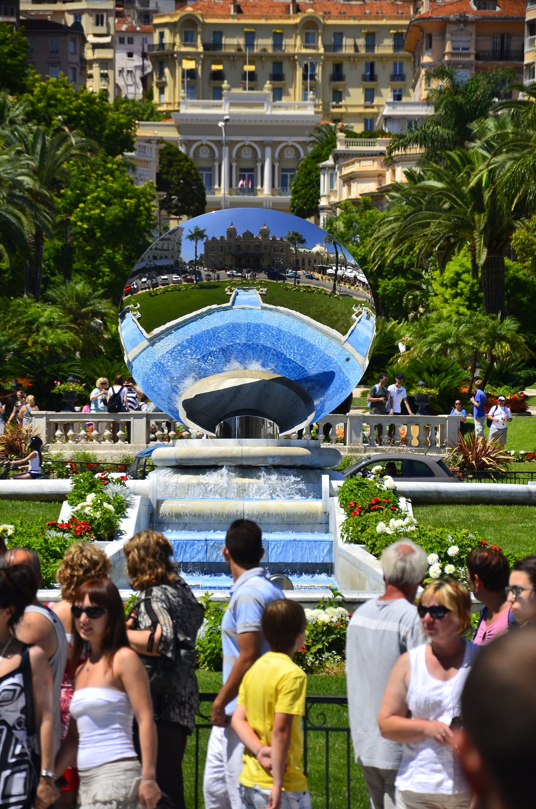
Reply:
[[[112,563],[96,545],[86,542],[75,542],[65,552],[62,564],[57,569],[57,581],[62,587],[62,600],[56,604],[49,604],[49,607],[57,614],[65,629],[69,647],[73,646],[72,616],[70,608],[72,606],[74,593],[83,582],[91,578],[108,578]],[[65,673],[62,681],[62,694],[60,705],[62,709],[62,738],[67,735],[70,724],[69,705],[73,698],[73,679],[70,673],[70,661],[67,661]],[[65,781],[58,803],[58,809],[70,809],[74,806],[74,801],[79,789],[79,772],[76,765],[66,769],[63,773]]]

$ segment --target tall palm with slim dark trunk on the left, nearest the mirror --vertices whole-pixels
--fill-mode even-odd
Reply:
[[[40,215],[34,219],[32,235],[32,261],[28,272],[28,285],[25,294],[32,294],[40,300],[43,281],[43,247],[45,234],[53,234],[56,213],[55,195],[62,187],[70,184],[68,163],[75,159],[87,159],[89,143],[76,141],[70,132],[60,129],[53,135],[42,126],[20,133],[20,144],[32,159],[33,174],[37,186],[32,190],[32,198],[40,207]]]

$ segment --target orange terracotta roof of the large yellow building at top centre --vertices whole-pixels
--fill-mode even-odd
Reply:
[[[513,0],[509,0],[513,2]],[[522,2],[522,0],[521,0]],[[402,0],[400,3],[390,2],[390,0],[369,0],[364,3],[348,3],[348,2],[334,2],[334,0],[316,0],[316,2],[297,2],[297,11],[300,14],[305,14],[306,11],[315,11],[317,14],[329,14],[331,17],[338,18],[347,16],[350,19],[359,17],[367,19],[372,15],[376,15],[381,11],[382,15],[389,17],[399,17],[398,11],[402,11],[403,15],[411,15],[411,2]],[[230,17],[231,3],[226,0],[197,0],[187,8],[181,8],[178,11],[183,14],[185,11],[198,11],[206,16],[217,17]],[[370,11],[371,14],[365,14],[365,11]],[[280,0],[238,0],[237,15],[244,17],[270,17],[281,18],[290,15],[290,4],[287,2],[280,2]],[[379,16],[379,15],[378,15]]]

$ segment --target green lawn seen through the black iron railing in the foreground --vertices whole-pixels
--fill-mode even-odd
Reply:
[[[221,686],[221,672],[198,671],[199,691],[215,693]],[[307,681],[308,694],[334,694],[346,696],[346,677],[344,675],[309,675]],[[211,705],[207,702],[201,706],[202,714],[210,715]],[[311,722],[334,727],[348,725],[347,709],[339,706],[313,705],[309,718]],[[210,730],[199,731],[199,807],[204,807],[202,799],[202,762],[206,755],[206,742]],[[347,768],[346,768],[345,733],[330,733],[330,806],[347,806]],[[354,763],[351,751],[351,807],[352,809],[368,809],[368,792],[361,768]],[[195,735],[186,746],[183,764],[185,774],[185,798],[188,809],[194,809],[195,794]],[[309,731],[308,733],[308,786],[311,792],[313,809],[325,807],[325,731]]]

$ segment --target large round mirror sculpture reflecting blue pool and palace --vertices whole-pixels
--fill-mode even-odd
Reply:
[[[291,214],[235,208],[168,231],[125,286],[120,333],[134,379],[164,413],[222,437],[236,417],[274,434],[338,412],[368,365],[374,307],[365,291],[314,286],[310,272],[366,286],[341,244]]]

